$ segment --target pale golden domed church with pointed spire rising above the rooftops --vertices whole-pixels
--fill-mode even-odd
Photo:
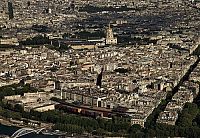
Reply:
[[[114,37],[112,28],[110,27],[110,24],[108,28],[106,29],[106,45],[116,45],[117,44],[117,38]]]

